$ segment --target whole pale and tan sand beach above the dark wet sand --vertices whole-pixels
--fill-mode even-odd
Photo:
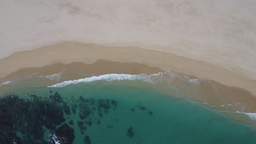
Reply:
[[[256,95],[255,7],[254,1],[231,0],[2,1],[0,77],[20,68],[105,59]]]

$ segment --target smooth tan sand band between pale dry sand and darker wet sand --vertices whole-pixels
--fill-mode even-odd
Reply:
[[[0,81],[8,74],[22,68],[44,67],[57,62],[92,64],[98,59],[145,64],[162,71],[171,70],[174,73],[183,73],[198,79],[213,80],[229,87],[246,89],[256,97],[255,80],[218,65],[138,47],[109,47],[74,41],[64,41],[31,51],[16,52],[9,57],[0,59],[0,67],[4,68],[0,71]]]

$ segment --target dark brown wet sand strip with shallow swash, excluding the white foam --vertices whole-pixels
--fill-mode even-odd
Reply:
[[[229,87],[219,82],[206,79],[198,79],[197,81],[199,83],[188,82],[188,79],[196,79],[196,77],[182,73],[172,73],[175,75],[173,77],[170,76],[168,72],[158,67],[150,67],[146,64],[139,63],[121,63],[106,60],[98,60],[92,64],[83,62],[72,62],[68,64],[54,63],[44,67],[22,68],[1,79],[1,81],[11,81],[14,83],[2,85],[0,87],[0,94],[3,95],[26,87],[46,87],[67,80],[77,80],[104,74],[151,75],[159,72],[162,73],[160,78],[162,80],[155,83],[156,85],[137,82],[117,82],[117,85],[121,84],[155,89],[162,93],[175,95],[178,98],[214,105],[219,107],[219,109],[256,112],[256,98],[245,89]],[[60,75],[60,77],[57,75]],[[48,79],[45,77],[48,77]],[[154,76],[152,77],[152,79],[156,81],[160,80],[157,76],[155,76],[155,78]],[[20,82],[20,84],[16,84],[15,82]],[[176,88],[172,89],[171,87]]]

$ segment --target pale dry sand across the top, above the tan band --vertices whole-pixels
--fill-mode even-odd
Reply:
[[[2,0],[0,58],[71,40],[165,51],[255,80],[255,7],[254,0]]]

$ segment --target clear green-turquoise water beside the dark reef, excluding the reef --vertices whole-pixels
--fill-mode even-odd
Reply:
[[[74,129],[73,143],[256,143],[253,127],[232,121],[205,106],[150,89],[94,82],[62,88],[27,88],[13,94],[32,101],[30,95],[37,95],[50,101],[49,95],[55,92],[59,92],[71,111],[71,115],[65,114],[63,123]],[[99,100],[107,101],[109,107],[98,107]],[[91,110],[84,119],[79,117],[83,105]],[[90,120],[91,126],[86,124]],[[86,130],[80,129],[78,121],[83,122]],[[49,131],[45,129],[45,141],[47,135]]]

